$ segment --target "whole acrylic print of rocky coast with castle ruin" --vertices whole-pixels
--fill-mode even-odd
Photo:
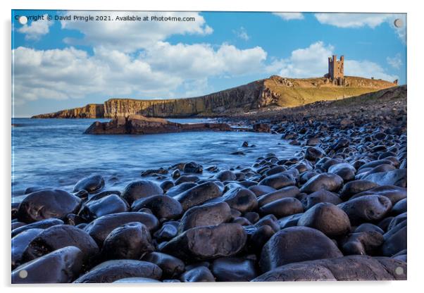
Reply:
[[[11,282],[406,280],[406,15],[12,11]]]

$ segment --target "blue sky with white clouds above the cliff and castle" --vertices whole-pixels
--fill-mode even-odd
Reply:
[[[406,14],[15,10],[13,116],[322,77],[332,54],[345,75],[406,84]]]

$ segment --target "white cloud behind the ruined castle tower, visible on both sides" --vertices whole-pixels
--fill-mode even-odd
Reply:
[[[289,58],[275,60],[267,71],[283,77],[321,77],[328,72],[328,57],[332,56],[334,47],[323,42],[316,42],[304,49],[292,51]],[[374,77],[382,80],[396,80],[397,75],[386,73],[377,63],[372,61],[356,61],[344,59],[344,74],[359,77]]]

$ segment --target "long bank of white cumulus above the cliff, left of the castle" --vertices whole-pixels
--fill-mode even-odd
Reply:
[[[237,49],[222,44],[159,42],[141,54],[103,46],[94,55],[73,47],[13,51],[14,96],[17,104],[36,99],[74,99],[90,94],[133,97],[172,97],[180,86],[202,85],[219,75],[244,75],[263,68],[260,47]],[[188,83],[187,83],[188,82]],[[202,92],[201,89],[198,92]],[[193,89],[188,94],[196,93]]]

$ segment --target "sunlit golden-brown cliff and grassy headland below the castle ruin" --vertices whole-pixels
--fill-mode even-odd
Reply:
[[[293,79],[273,75],[247,85],[225,89],[206,96],[185,99],[108,99],[104,104],[46,113],[32,118],[118,118],[219,116],[268,106],[294,107],[315,101],[356,96],[396,84],[384,80],[346,77],[344,86],[333,85],[325,77]]]

